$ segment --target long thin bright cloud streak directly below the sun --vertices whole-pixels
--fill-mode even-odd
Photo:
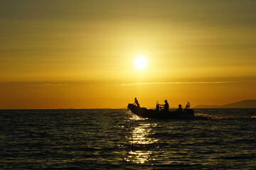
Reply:
[[[237,81],[198,81],[198,82],[146,82],[133,84],[120,84],[121,86],[136,86],[144,84],[234,84]]]

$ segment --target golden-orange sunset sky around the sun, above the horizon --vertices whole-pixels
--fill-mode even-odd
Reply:
[[[0,109],[256,97],[256,1],[2,1]],[[144,55],[144,69],[134,67]]]

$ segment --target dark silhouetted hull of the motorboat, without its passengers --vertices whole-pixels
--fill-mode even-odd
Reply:
[[[155,118],[155,119],[193,119],[196,116],[193,113],[192,109],[187,109],[186,111],[178,112],[178,111],[156,111],[147,108],[140,108],[135,106],[134,104],[129,103],[127,108],[134,113],[135,115],[139,115],[143,118]]]

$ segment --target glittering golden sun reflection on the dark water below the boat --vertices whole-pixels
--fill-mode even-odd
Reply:
[[[137,115],[132,115],[130,120],[143,120]],[[127,162],[134,162],[137,164],[144,164],[149,161],[149,157],[152,154],[150,150],[146,150],[146,145],[151,145],[157,142],[158,140],[149,137],[151,134],[151,127],[156,125],[150,123],[141,123],[137,127],[133,127],[132,135],[129,137],[129,142],[134,146],[134,150],[129,151],[129,154],[125,160]],[[143,148],[143,149],[142,149]],[[154,160],[154,159],[152,159]]]

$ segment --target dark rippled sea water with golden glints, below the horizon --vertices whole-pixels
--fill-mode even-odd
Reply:
[[[195,112],[208,119],[0,111],[0,169],[256,169],[256,109]]]

